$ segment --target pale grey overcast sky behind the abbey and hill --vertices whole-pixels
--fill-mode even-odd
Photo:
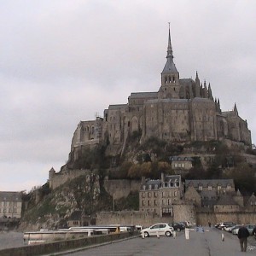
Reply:
[[[68,159],[80,120],[157,91],[168,22],[180,78],[211,83],[256,143],[256,1],[1,0],[0,190],[29,192]]]

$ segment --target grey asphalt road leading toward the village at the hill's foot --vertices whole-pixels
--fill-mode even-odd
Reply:
[[[224,234],[224,241],[221,234]],[[160,256],[160,255],[189,255],[189,256],[236,256],[255,255],[256,243],[253,237],[249,238],[247,253],[241,253],[237,236],[216,228],[205,232],[189,231],[189,240],[185,239],[184,232],[177,233],[176,238],[161,236],[148,238],[133,238],[91,247],[76,253],[67,253],[70,256]],[[255,244],[255,245],[254,245]]]

